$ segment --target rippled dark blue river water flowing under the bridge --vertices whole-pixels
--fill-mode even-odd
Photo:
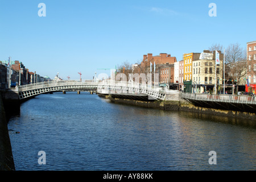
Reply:
[[[113,104],[86,92],[36,96],[8,127],[16,170],[256,169],[255,121]]]

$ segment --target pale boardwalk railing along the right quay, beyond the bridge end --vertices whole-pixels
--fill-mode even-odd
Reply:
[[[196,101],[212,101],[212,102],[227,102],[227,103],[237,103],[237,104],[256,104],[254,96],[237,96],[228,94],[199,94],[199,93],[180,93],[181,98],[187,100]]]

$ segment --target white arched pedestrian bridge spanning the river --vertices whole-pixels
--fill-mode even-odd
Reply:
[[[93,80],[61,80],[39,82],[35,84],[22,85],[18,87],[20,100],[28,97],[33,97],[42,93],[59,92],[63,90],[82,90],[101,94],[150,96],[152,99],[155,100],[164,100],[167,93],[164,92],[163,88],[159,88],[158,86],[149,86],[145,84],[141,85],[135,84],[133,82],[113,80],[104,80],[101,82],[95,82]],[[179,92],[175,93],[179,94]]]

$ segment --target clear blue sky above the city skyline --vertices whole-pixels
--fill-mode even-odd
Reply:
[[[39,3],[46,17],[39,17]],[[216,3],[217,16],[208,7]],[[99,68],[143,55],[203,52],[255,41],[256,1],[1,0],[0,60],[19,60],[41,76],[92,79]]]

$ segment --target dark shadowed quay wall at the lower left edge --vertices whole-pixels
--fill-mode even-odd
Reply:
[[[0,171],[14,171],[13,152],[7,127],[5,107],[0,92]]]

